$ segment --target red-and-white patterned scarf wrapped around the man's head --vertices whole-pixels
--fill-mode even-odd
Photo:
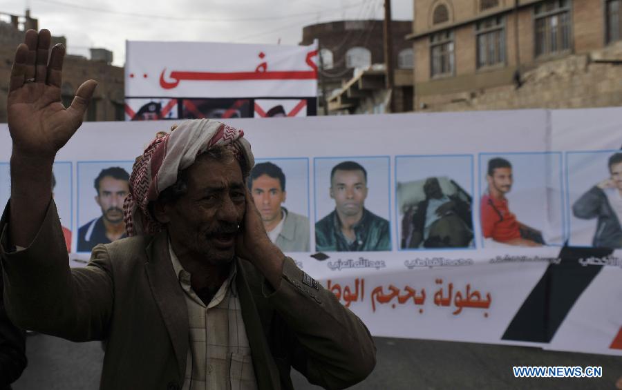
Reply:
[[[129,195],[123,204],[128,236],[154,234],[164,227],[149,212],[149,202],[177,182],[178,174],[194,164],[196,157],[214,146],[230,148],[249,168],[254,157],[244,132],[210,119],[182,122],[170,134],[154,139],[134,162]]]

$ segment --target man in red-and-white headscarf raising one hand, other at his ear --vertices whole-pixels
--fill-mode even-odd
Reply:
[[[292,389],[291,367],[331,389],[368,376],[368,330],[270,242],[245,188],[250,145],[217,121],[185,121],[153,139],[130,177],[129,237],[69,269],[50,176],[96,83],[64,108],[64,48],[46,64],[49,45],[50,32],[28,30],[11,73],[0,255],[12,320],[106,340],[100,389]]]

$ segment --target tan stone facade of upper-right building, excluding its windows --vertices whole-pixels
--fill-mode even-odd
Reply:
[[[622,68],[596,59],[622,59],[620,43],[606,41],[607,0],[565,0],[569,48],[536,55],[536,7],[550,1],[416,0],[413,33],[415,110],[490,110],[513,108],[578,108],[622,104]],[[433,23],[433,10],[449,10],[449,20]],[[477,64],[478,23],[502,23],[504,61]],[[560,19],[556,20],[557,23]],[[451,32],[454,66],[451,75],[431,73],[431,35]],[[518,81],[520,79],[520,81]],[[517,86],[520,85],[520,88]],[[619,92],[617,92],[619,91]]]

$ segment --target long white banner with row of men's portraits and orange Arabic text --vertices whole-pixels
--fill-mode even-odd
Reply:
[[[611,180],[619,164],[621,114],[520,110],[227,124],[243,128],[258,163],[281,168],[282,206],[308,220],[306,248],[288,255],[374,335],[622,355],[621,251],[592,247],[596,239],[614,242],[619,220],[581,213],[596,202],[582,204],[583,195]],[[73,266],[88,259],[78,247],[86,226],[106,212],[94,200],[95,179],[106,169],[129,171],[156,131],[174,123],[85,123],[60,150],[55,201],[73,232]],[[0,134],[6,202],[10,139],[6,127]],[[344,172],[364,172],[362,186],[349,188]],[[615,202],[607,197],[615,185],[600,202]],[[491,195],[496,188],[505,201]],[[357,204],[366,219],[348,240],[340,215]],[[519,225],[511,231],[504,221],[531,230],[523,237]],[[517,232],[518,241],[506,237]],[[539,244],[509,244],[527,241]]]

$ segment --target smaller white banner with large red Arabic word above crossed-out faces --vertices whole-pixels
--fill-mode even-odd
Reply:
[[[317,43],[127,41],[126,53],[128,120],[315,115]]]

